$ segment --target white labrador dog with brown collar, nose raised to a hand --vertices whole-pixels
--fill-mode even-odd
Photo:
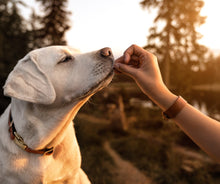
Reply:
[[[71,122],[109,84],[113,60],[110,48],[51,46],[18,62],[4,86],[12,101],[0,119],[1,184],[90,183]]]

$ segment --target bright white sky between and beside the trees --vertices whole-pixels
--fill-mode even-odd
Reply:
[[[24,1],[41,11],[34,0]],[[72,28],[66,34],[68,45],[81,52],[111,47],[115,55],[122,54],[131,44],[146,45],[156,11],[143,9],[140,2],[141,0],[69,0]],[[205,0],[201,15],[207,16],[206,23],[197,29],[203,35],[200,43],[214,51],[220,50],[219,7],[219,0]],[[24,16],[28,16],[28,13],[24,13]]]

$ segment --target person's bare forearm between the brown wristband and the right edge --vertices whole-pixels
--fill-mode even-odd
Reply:
[[[176,116],[177,125],[206,153],[220,162],[220,123],[187,104]]]

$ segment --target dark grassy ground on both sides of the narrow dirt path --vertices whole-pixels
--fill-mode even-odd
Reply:
[[[87,104],[81,112],[104,119],[106,104],[117,102],[111,96],[108,99],[102,102],[99,95],[99,98],[93,98],[92,103]],[[103,149],[105,140],[111,143],[122,158],[133,163],[156,184],[219,183],[215,181],[219,175],[216,165],[203,164],[202,167],[194,168],[192,172],[183,169],[185,160],[189,159],[192,162],[194,160],[176,152],[173,145],[178,144],[197,152],[200,152],[200,149],[174,123],[164,122],[160,111],[135,109],[130,107],[126,100],[125,107],[128,117],[136,117],[129,132],[116,131],[106,122],[94,123],[89,118],[75,120],[82,152],[82,167],[92,183],[117,184],[114,182],[112,172],[115,165]]]

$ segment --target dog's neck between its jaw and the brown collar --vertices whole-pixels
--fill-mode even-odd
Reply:
[[[33,149],[55,147],[60,144],[67,129],[73,128],[71,122],[88,98],[59,108],[20,100],[17,103],[17,99],[12,99],[11,113],[16,130]]]

